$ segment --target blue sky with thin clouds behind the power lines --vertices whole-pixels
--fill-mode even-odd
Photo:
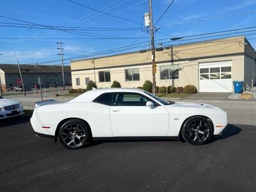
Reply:
[[[76,0],[92,8],[125,17],[143,24],[143,13],[148,12],[148,1],[145,0]],[[49,26],[74,26],[95,28],[141,28],[140,24],[109,17],[70,3],[67,0],[0,0],[0,15],[15,19],[26,20]],[[164,12],[170,4],[170,0],[152,0],[154,21]],[[156,32],[156,46],[159,42],[170,44],[170,40],[161,40],[169,36],[186,36],[212,31],[245,28],[256,26],[256,0],[176,0],[170,10],[157,23],[161,27]],[[225,19],[213,19],[204,22],[189,23],[212,17],[232,15],[234,13],[252,12],[244,15],[227,17]],[[0,22],[15,22],[0,18]],[[20,22],[22,23],[22,22]],[[179,24],[179,25],[173,25]],[[145,42],[150,36],[144,29],[136,31],[88,31],[110,36],[141,37],[143,39],[129,40],[61,40],[65,58],[105,51],[116,47],[131,45],[136,42]],[[163,35],[165,33],[167,35]],[[6,28],[0,26],[0,38],[56,38],[54,40],[4,40],[0,39],[0,63],[34,63],[41,61],[59,60],[56,42],[58,38],[86,38],[86,36],[65,33],[63,31],[49,29]],[[145,38],[144,38],[145,37]],[[256,45],[256,35],[247,36],[253,47]],[[186,41],[184,41],[185,43]],[[130,51],[146,49],[143,47]],[[124,51],[113,52],[122,53]],[[55,64],[55,63],[54,63]]]

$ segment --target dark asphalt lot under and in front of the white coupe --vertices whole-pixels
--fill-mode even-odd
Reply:
[[[108,141],[79,150],[35,136],[29,116],[0,122],[0,191],[256,191],[256,126],[204,146]]]

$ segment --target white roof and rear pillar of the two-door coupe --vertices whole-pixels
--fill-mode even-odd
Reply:
[[[97,98],[102,93],[113,93],[113,92],[131,92],[131,93],[144,93],[144,90],[138,88],[100,88],[85,92],[78,97],[70,100],[69,102],[90,102]]]

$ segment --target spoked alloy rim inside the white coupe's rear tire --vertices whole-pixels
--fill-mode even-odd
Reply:
[[[62,141],[71,148],[77,148],[83,145],[86,140],[86,132],[82,125],[70,123],[65,125],[61,131]]]

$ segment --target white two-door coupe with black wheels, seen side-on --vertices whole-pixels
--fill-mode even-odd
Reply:
[[[67,148],[113,138],[180,138],[203,145],[221,134],[227,113],[201,103],[168,102],[134,88],[90,90],[68,102],[36,103],[31,124],[37,136]]]

